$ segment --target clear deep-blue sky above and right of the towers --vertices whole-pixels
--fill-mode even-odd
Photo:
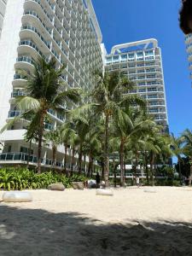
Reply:
[[[178,27],[180,0],[92,0],[110,52],[114,44],[156,38],[162,51],[170,131],[192,129],[192,89],[184,35]]]

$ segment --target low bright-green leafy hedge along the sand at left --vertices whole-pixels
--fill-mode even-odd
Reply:
[[[84,182],[87,178],[83,175],[73,174],[67,177],[54,172],[34,173],[24,168],[0,169],[0,189],[47,189],[51,183],[63,183],[66,188],[72,186],[72,182]]]

